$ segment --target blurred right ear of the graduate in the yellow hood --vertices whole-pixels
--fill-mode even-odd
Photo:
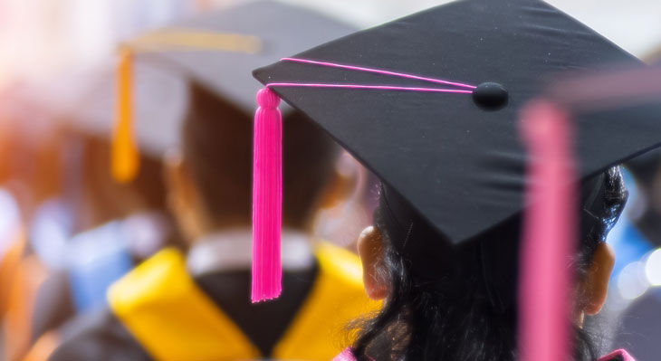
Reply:
[[[365,172],[365,170],[349,153],[344,153],[339,158],[335,172],[321,194],[320,207],[331,209],[347,201],[359,186],[361,177],[364,177],[361,172]]]

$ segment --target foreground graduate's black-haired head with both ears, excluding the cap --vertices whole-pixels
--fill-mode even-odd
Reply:
[[[578,360],[594,360],[597,335],[582,328],[586,315],[595,315],[606,300],[608,278],[614,255],[605,241],[610,226],[615,223],[627,200],[627,191],[618,168],[584,186],[592,204],[581,204],[583,224],[580,247],[573,259],[579,278],[574,290],[573,342]],[[516,355],[516,294],[513,284],[498,290],[493,301],[490,288],[485,285],[484,269],[466,270],[465,264],[474,262],[477,248],[451,247],[445,237],[436,233],[424,218],[415,214],[407,219],[413,224],[410,235],[403,236],[400,223],[393,218],[388,203],[399,197],[394,191],[381,194],[374,225],[359,237],[359,253],[365,270],[365,288],[373,299],[388,299],[387,306],[377,318],[369,320],[361,329],[361,337],[354,344],[358,355],[375,359],[470,359],[510,360]],[[398,201],[400,202],[400,201]],[[599,205],[597,205],[599,204]],[[588,214],[589,213],[589,214]],[[483,254],[485,264],[498,264],[494,271],[498,278],[517,280],[518,254],[521,237],[521,218],[503,223],[484,233],[474,242],[500,242],[511,254],[499,252]],[[406,250],[404,242],[425,242],[433,245],[418,250]],[[436,254],[436,259],[429,252]],[[434,267],[429,261],[434,259]],[[484,266],[483,266],[484,267]],[[501,280],[502,281],[502,280]],[[426,358],[426,355],[436,357]],[[419,358],[418,358],[419,357]]]

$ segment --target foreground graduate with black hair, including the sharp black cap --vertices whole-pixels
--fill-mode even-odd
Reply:
[[[301,110],[381,181],[359,255],[365,288],[384,307],[337,361],[521,357],[517,280],[520,254],[530,252],[519,249],[534,204],[524,194],[540,180],[529,182],[529,162],[541,162],[529,157],[519,119],[555,74],[609,62],[640,65],[542,1],[465,0],[254,71],[262,96]],[[583,318],[606,298],[614,256],[604,241],[627,198],[613,166],[657,147],[660,133],[653,117],[627,112],[575,120],[568,143],[576,177],[558,181],[578,188],[578,245],[564,262],[577,280],[567,319],[574,352],[557,358],[595,361],[599,335],[582,328]],[[533,230],[553,221],[535,219]],[[630,356],[618,350],[603,359]]]

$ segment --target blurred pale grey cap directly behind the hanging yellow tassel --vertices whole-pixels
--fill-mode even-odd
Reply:
[[[172,71],[134,64],[132,81],[133,119],[131,138],[143,155],[159,159],[168,147],[178,144],[178,124],[187,111],[187,82]],[[115,69],[110,63],[68,73],[58,82],[67,82],[70,94],[55,97],[55,116],[83,134],[110,139],[116,109]],[[158,106],[156,106],[158,104]],[[136,153],[135,155],[139,155]]]

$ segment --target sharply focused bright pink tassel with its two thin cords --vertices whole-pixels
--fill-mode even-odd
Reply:
[[[282,265],[280,254],[280,226],[283,204],[283,119],[277,109],[280,99],[272,87],[339,88],[354,90],[395,90],[435,93],[470,94],[473,85],[454,81],[426,78],[403,72],[364,68],[333,62],[284,58],[286,62],[299,62],[350,71],[373,72],[382,75],[426,81],[463,89],[402,87],[394,85],[332,84],[273,82],[257,93],[259,108],[254,115],[253,159],[253,285],[251,299],[259,302],[274,299],[282,291]]]

